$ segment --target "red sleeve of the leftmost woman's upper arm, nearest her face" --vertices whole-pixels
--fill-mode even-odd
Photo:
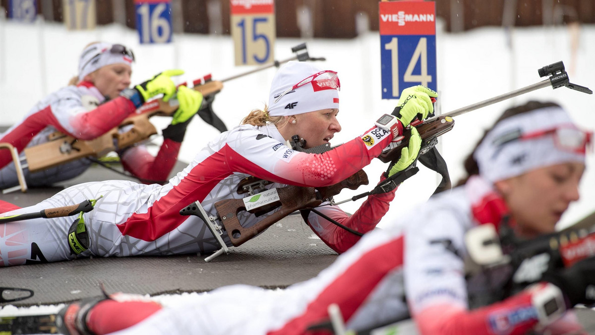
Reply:
[[[136,111],[134,104],[123,96],[118,96],[89,112],[76,114],[70,124],[74,128],[71,135],[81,140],[92,140],[117,127],[125,118]]]

